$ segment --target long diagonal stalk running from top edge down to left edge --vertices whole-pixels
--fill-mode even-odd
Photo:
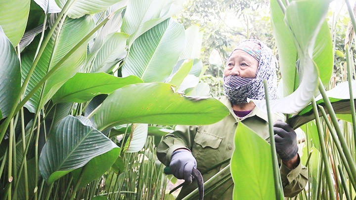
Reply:
[[[46,36],[40,50],[39,50],[39,53],[37,55],[37,57],[35,58],[32,66],[31,66],[31,69],[29,70],[27,76],[26,76],[26,79],[24,80],[22,86],[21,86],[21,89],[20,89],[20,92],[18,93],[18,96],[16,97],[12,107],[11,107],[11,110],[9,112],[9,115],[7,116],[6,120],[1,124],[1,132],[0,132],[0,144],[2,142],[2,139],[3,139],[3,136],[5,135],[5,131],[10,123],[10,120],[13,118],[13,116],[15,115],[15,113],[17,113],[21,107],[23,107],[23,105],[25,105],[25,103],[28,101],[28,99],[30,99],[30,97],[33,95],[31,95],[25,102],[23,102],[23,104],[21,105],[17,105],[18,102],[20,102],[21,100],[21,97],[22,97],[22,94],[26,91],[26,88],[27,88],[27,84],[28,82],[30,81],[30,78],[32,76],[32,73],[35,71],[35,68],[36,68],[36,65],[37,63],[39,62],[40,60],[40,57],[42,56],[43,52],[45,51],[45,46],[47,45],[47,43],[49,42],[53,32],[55,31],[55,28],[57,27],[58,23],[59,23],[59,20],[60,18],[62,18],[64,16],[65,13],[68,12],[70,6],[73,4],[75,0],[68,0],[66,2],[66,4],[64,5],[62,11],[59,13],[58,15],[58,18],[56,19],[56,21],[54,22],[53,24],[53,27],[49,30],[48,32],[48,35]],[[47,78],[48,79],[48,78]],[[43,83],[41,83],[42,85]],[[38,88],[37,88],[38,89]],[[35,90],[35,92],[37,91],[37,89]],[[33,91],[33,90],[32,90]],[[35,93],[33,92],[33,93]],[[29,96],[29,95],[27,95]],[[23,100],[22,100],[23,101]],[[21,101],[21,102],[22,102]]]

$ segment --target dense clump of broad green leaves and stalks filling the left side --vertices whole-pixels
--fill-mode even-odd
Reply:
[[[176,92],[201,72],[198,29],[171,18],[181,8],[181,0],[0,2],[0,199],[84,198],[88,184],[123,171],[123,153],[141,151],[149,130],[228,115],[216,99]],[[121,141],[111,133],[118,125],[127,127]]]

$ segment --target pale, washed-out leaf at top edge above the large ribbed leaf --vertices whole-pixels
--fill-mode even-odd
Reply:
[[[122,32],[130,35],[129,46],[143,33],[181,9],[182,0],[130,0],[122,25]]]

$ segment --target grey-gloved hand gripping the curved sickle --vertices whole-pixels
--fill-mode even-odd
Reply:
[[[186,183],[192,183],[192,171],[196,168],[196,160],[190,151],[179,149],[173,152],[170,168],[172,174],[178,179],[184,179]]]

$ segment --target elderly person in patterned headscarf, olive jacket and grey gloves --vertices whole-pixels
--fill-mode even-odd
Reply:
[[[267,114],[248,99],[265,99],[263,80],[268,83],[268,94],[276,99],[276,58],[270,48],[259,40],[239,43],[227,58],[223,73],[225,96],[219,100],[230,110],[223,120],[203,126],[180,126],[164,137],[158,145],[157,157],[178,179],[192,182],[193,168],[201,172],[232,156],[234,134],[238,121],[253,129],[266,139],[268,133]],[[284,116],[273,115],[274,139],[280,161],[280,174],[285,197],[294,197],[308,182],[308,170],[300,162],[296,133],[285,122]],[[238,133],[237,133],[238,134]],[[202,174],[207,181],[228,163]],[[223,177],[224,174],[222,174]],[[185,184],[178,199],[197,188],[197,184]],[[232,180],[206,196],[206,199],[232,199]],[[253,194],[251,194],[253,195]]]

